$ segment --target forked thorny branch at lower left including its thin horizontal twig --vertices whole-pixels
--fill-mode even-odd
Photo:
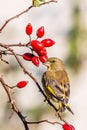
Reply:
[[[11,106],[12,106],[12,109],[13,111],[15,111],[17,113],[17,115],[19,116],[19,118],[21,119],[21,121],[23,122],[24,124],[24,127],[25,127],[25,130],[29,130],[29,126],[28,124],[40,124],[40,123],[49,123],[49,124],[59,124],[59,125],[62,125],[61,123],[59,122],[51,122],[51,121],[48,121],[48,120],[41,120],[41,121],[34,121],[34,122],[28,122],[26,121],[26,118],[22,115],[22,113],[18,110],[18,107],[16,105],[16,102],[15,100],[13,99],[13,96],[12,96],[12,89],[5,83],[5,81],[3,80],[3,77],[0,77],[0,82],[2,84],[2,86],[4,87],[7,95],[8,95],[8,98],[9,98],[9,102],[11,103]]]

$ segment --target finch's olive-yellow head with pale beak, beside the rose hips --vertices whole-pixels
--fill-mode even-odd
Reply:
[[[47,66],[48,70],[64,70],[64,64],[63,61],[61,61],[59,58],[51,57],[49,58],[45,63],[45,66]]]

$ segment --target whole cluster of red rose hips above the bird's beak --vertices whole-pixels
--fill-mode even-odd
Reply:
[[[23,59],[27,61],[32,61],[34,65],[39,66],[40,61],[44,63],[48,59],[46,47],[54,45],[55,42],[50,38],[46,38],[41,41],[38,40],[39,38],[42,38],[44,36],[45,30],[43,26],[37,29],[36,31],[37,38],[34,40],[31,40],[33,27],[30,23],[26,26],[25,31],[26,34],[30,37],[30,41],[27,44],[27,46],[30,47],[32,52],[24,53]]]

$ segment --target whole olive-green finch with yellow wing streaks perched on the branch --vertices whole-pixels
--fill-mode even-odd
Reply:
[[[59,113],[64,112],[67,108],[73,114],[68,105],[70,84],[63,62],[51,57],[44,65],[47,66],[47,71],[42,76],[42,84],[47,98],[58,103]]]

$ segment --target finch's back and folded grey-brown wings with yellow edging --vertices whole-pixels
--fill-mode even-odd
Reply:
[[[69,80],[65,71],[48,71],[45,73],[45,86],[50,94],[59,101],[62,101],[64,96],[69,97]]]

